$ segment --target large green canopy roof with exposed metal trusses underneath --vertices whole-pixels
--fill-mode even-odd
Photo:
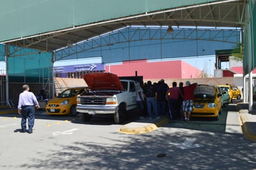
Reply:
[[[6,1],[0,42],[53,51],[127,25],[243,27],[246,1]]]

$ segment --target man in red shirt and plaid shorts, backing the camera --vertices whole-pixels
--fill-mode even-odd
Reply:
[[[186,81],[186,86],[183,87],[184,91],[184,101],[183,101],[183,112],[184,112],[184,119],[185,122],[190,120],[191,112],[193,111],[194,105],[194,88],[196,87],[197,83],[190,84],[190,81]]]

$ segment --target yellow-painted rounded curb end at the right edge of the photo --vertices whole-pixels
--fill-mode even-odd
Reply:
[[[251,141],[256,141],[256,134],[253,132],[252,128],[250,128],[249,121],[246,115],[240,115],[240,121],[242,124],[242,132],[245,138]]]

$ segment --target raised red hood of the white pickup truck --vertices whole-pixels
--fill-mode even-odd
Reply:
[[[122,84],[116,74],[112,73],[89,73],[84,74],[82,78],[85,80],[89,89],[96,90],[114,90],[123,91]]]

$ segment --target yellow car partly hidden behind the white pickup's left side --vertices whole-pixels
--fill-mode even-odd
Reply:
[[[71,115],[75,116],[76,112],[76,96],[88,89],[88,87],[72,87],[52,98],[46,105],[46,113],[49,115]]]

